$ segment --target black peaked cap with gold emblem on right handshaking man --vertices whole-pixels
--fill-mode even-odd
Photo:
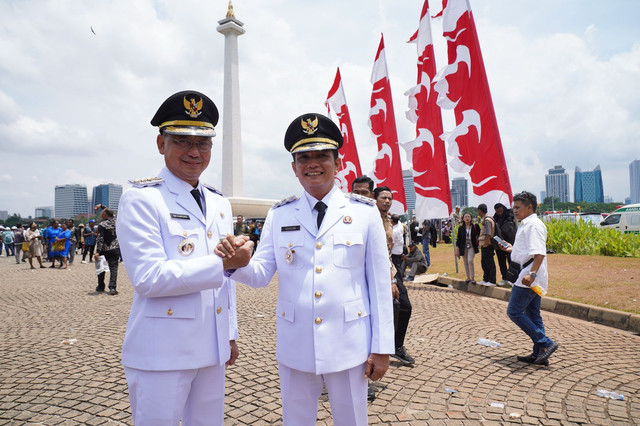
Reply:
[[[292,154],[324,149],[340,149],[342,133],[322,114],[302,114],[293,120],[284,134],[284,147]]]

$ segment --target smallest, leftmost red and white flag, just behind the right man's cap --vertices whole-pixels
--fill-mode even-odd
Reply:
[[[343,192],[351,192],[351,184],[355,178],[362,176],[360,168],[360,158],[356,149],[356,139],[353,136],[353,127],[351,126],[351,116],[347,107],[347,98],[344,96],[344,88],[342,87],[342,77],[340,76],[340,68],[336,71],[336,78],[333,86],[327,94],[327,100],[324,102],[331,116],[331,108],[338,116],[340,123],[340,131],[342,132],[343,144],[338,151],[342,166],[335,176],[336,185]]]

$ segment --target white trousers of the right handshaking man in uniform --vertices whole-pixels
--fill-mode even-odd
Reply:
[[[367,378],[364,364],[337,373],[314,374],[278,364],[283,426],[314,426],[318,398],[327,387],[335,426],[367,424]]]

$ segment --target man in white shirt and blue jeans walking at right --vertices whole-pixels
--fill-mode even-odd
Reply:
[[[513,213],[520,221],[516,239],[504,249],[511,252],[511,260],[522,265],[518,279],[511,289],[507,315],[533,341],[531,355],[518,356],[518,361],[537,365],[549,365],[549,357],[558,349],[558,344],[545,334],[540,316],[541,297],[532,290],[546,293],[549,275],[547,272],[547,227],[534,213],[536,196],[523,191],[513,197]]]

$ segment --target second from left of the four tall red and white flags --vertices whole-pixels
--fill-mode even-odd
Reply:
[[[371,83],[373,91],[371,93],[371,109],[369,110],[369,128],[378,142],[378,155],[374,162],[371,178],[376,186],[387,186],[391,189],[393,204],[390,212],[401,215],[407,211],[407,201],[404,195],[391,84],[389,83],[387,60],[384,54],[384,36],[380,37],[380,46],[371,73]]]

